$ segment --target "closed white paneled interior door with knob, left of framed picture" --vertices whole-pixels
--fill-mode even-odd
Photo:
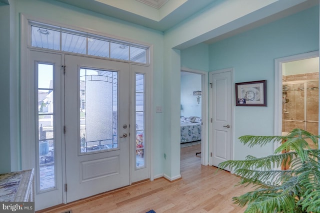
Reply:
[[[211,165],[231,159],[231,71],[211,74]],[[228,168],[226,169],[228,170]]]

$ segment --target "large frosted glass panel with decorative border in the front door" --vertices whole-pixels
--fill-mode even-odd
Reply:
[[[116,94],[117,72],[80,69],[81,153],[117,148]]]

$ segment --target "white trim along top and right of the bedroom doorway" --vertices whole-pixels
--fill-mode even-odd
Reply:
[[[190,72],[201,75],[201,164],[208,165],[208,73],[200,70],[193,70],[189,68],[182,67],[180,71]]]

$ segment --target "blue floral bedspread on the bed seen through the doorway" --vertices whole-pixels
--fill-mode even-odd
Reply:
[[[180,121],[181,143],[201,140],[201,124]]]

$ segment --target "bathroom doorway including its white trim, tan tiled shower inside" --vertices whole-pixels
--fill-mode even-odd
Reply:
[[[318,135],[319,126],[318,51],[275,60],[275,135],[295,128]],[[311,142],[311,148],[315,147]],[[274,146],[276,149],[279,144]],[[289,165],[282,165],[287,169]]]

